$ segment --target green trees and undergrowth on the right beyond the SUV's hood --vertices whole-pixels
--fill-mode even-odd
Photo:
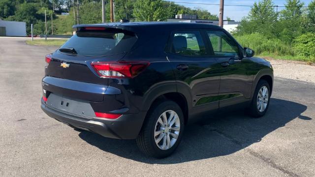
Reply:
[[[272,0],[254,2],[233,35],[256,54],[315,61],[315,0],[286,0],[277,11]]]

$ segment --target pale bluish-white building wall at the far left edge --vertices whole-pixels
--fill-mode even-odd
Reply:
[[[26,36],[26,23],[0,20],[0,27],[5,27],[6,36]]]

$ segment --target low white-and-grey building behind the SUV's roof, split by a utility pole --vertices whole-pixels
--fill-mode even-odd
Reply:
[[[194,19],[192,19],[192,17]],[[196,15],[179,14],[179,15],[176,15],[175,18],[173,19],[167,19],[167,21],[219,25],[219,20],[201,20],[201,19],[196,19],[196,17],[197,17]],[[235,22],[234,20],[223,20],[223,28],[229,32],[236,30],[236,27],[238,26],[239,26],[239,22]]]

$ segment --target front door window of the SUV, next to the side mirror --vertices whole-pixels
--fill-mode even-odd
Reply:
[[[238,56],[238,45],[222,31],[207,31],[215,56]]]

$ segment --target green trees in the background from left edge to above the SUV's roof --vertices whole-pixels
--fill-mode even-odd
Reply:
[[[101,23],[101,0],[78,0],[79,23]],[[175,18],[176,14],[194,14],[198,19],[218,19],[202,8],[188,8],[173,2],[162,0],[114,0],[116,21],[165,21]],[[105,0],[106,21],[110,21],[109,0]],[[48,34],[51,30],[53,17],[54,33],[71,33],[72,25],[77,23],[77,0],[0,0],[0,19],[22,21],[27,24],[27,33],[34,24],[35,34],[45,33],[45,16],[47,14]],[[62,12],[69,13],[61,16]]]

